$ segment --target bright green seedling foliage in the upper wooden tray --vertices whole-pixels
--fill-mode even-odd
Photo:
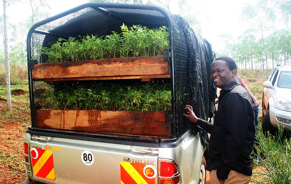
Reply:
[[[158,56],[169,48],[166,26],[148,29],[141,25],[121,26],[121,33],[112,31],[106,36],[59,38],[50,48],[42,48],[47,63],[98,60],[119,57]]]

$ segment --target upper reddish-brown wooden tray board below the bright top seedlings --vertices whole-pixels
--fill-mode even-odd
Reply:
[[[31,74],[34,80],[162,75],[169,74],[169,64],[163,56],[43,63],[35,64]]]

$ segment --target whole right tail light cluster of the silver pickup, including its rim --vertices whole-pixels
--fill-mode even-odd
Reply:
[[[159,159],[159,184],[179,184],[180,173],[175,161]]]

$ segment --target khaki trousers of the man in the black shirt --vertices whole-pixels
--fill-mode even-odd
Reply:
[[[248,184],[252,176],[246,176],[235,171],[230,171],[224,184]],[[216,169],[210,171],[210,184],[220,184],[216,176]]]

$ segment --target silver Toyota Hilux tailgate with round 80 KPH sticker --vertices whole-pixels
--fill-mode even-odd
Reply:
[[[158,148],[45,136],[33,138],[29,145],[33,180],[76,184],[158,183]],[[147,168],[153,171],[148,176]]]

